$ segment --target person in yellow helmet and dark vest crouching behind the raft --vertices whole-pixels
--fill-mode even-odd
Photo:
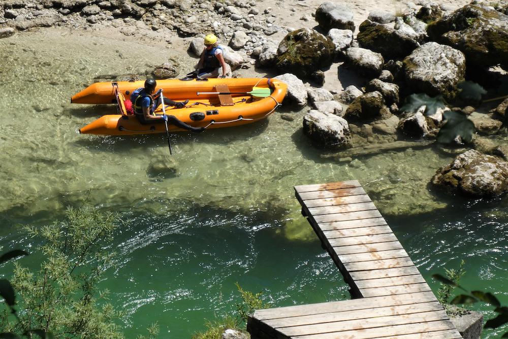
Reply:
[[[196,72],[199,79],[226,78],[231,67],[224,61],[223,52],[215,35],[209,34],[205,37],[205,48],[201,53]],[[219,75],[220,70],[222,70],[221,75]]]

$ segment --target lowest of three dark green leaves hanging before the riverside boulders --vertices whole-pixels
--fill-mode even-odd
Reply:
[[[457,137],[465,143],[470,143],[473,139],[474,124],[467,117],[458,112],[447,111],[443,114],[444,125],[439,129],[437,134],[437,142],[442,144],[450,144]]]

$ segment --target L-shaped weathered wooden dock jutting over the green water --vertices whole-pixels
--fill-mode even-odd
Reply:
[[[462,338],[358,181],[295,191],[356,299],[257,310],[252,339]]]

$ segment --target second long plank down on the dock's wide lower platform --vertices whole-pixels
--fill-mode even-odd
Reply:
[[[338,322],[346,320],[358,320],[358,319],[366,319],[366,321],[369,321],[369,318],[375,317],[386,317],[429,311],[442,311],[442,309],[443,308],[438,301],[432,301],[409,305],[381,307],[367,310],[331,312],[325,314],[314,314],[299,317],[267,319],[264,320],[264,323],[270,325],[273,328],[279,328],[279,327],[302,326],[302,325]]]

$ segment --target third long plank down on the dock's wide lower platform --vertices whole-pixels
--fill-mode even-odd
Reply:
[[[324,324],[280,327],[277,328],[277,330],[288,336],[360,330],[376,327],[379,327],[376,328],[376,331],[384,332],[385,328],[389,326],[415,324],[446,319],[448,319],[448,316],[444,311],[441,310],[431,312],[420,312],[416,314],[404,314],[398,316],[377,317],[371,318],[368,321],[366,321],[365,319],[359,319],[359,320],[337,321]]]

